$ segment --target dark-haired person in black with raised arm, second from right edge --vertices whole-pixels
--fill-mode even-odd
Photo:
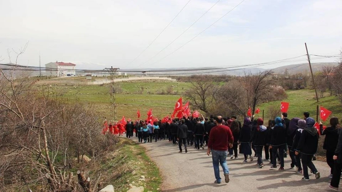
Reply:
[[[332,172],[334,170],[334,160],[333,156],[336,150],[337,142],[339,140],[339,129],[338,129],[339,119],[337,117],[330,118],[330,126],[326,129],[323,129],[322,122],[319,122],[320,133],[321,135],[325,135],[323,149],[326,150],[326,159],[327,164],[330,167],[330,175],[329,178],[332,178]]]

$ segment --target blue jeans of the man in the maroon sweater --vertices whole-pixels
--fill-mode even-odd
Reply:
[[[217,182],[221,182],[220,177],[220,167],[219,163],[221,164],[221,167],[223,169],[224,174],[229,174],[228,165],[226,162],[226,158],[228,155],[228,151],[217,151],[217,150],[211,150],[212,153],[212,159],[213,159],[213,167],[214,167],[214,174]]]

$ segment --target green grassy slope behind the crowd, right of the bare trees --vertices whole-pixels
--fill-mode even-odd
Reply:
[[[299,117],[303,118],[303,112],[309,112],[310,116],[316,120],[316,106],[323,106],[330,111],[332,114],[329,117],[336,116],[339,119],[342,118],[342,105],[335,96],[329,96],[326,93],[324,98],[319,98],[319,102],[317,103],[315,99],[315,91],[310,89],[302,89],[302,90],[288,90],[286,91],[288,98],[283,100],[285,102],[290,103],[290,107],[288,110],[289,118]],[[259,105],[261,110],[265,110],[265,119],[269,119],[268,109],[270,106],[277,106],[280,108],[280,101],[264,103]],[[279,114],[280,115],[280,114]],[[318,114],[319,115],[319,114]],[[261,117],[262,113],[255,115],[256,117]],[[318,116],[319,118],[319,116]],[[328,123],[329,120],[327,120]]]

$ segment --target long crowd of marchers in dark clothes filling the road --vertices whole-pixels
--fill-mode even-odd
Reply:
[[[320,173],[313,163],[318,148],[319,135],[326,135],[323,149],[326,150],[326,161],[330,167],[330,188],[338,190],[342,170],[342,131],[340,131],[339,120],[336,117],[330,119],[330,127],[323,127],[319,122],[319,129],[314,127],[315,120],[309,117],[308,112],[303,113],[303,119],[288,118],[287,113],[281,117],[269,120],[264,125],[262,118],[245,118],[243,122],[235,116],[223,118],[223,125],[234,137],[232,145],[228,148],[228,158],[238,159],[238,154],[243,154],[242,163],[253,161],[257,158],[257,166],[262,168],[265,162],[269,162],[271,168],[279,171],[285,170],[284,158],[291,159],[290,168],[297,168],[296,173],[302,174],[302,180],[308,181],[308,168],[320,178]],[[143,121],[130,119],[126,122],[115,124],[105,123],[103,133],[123,135],[130,138],[134,134],[140,143],[152,143],[167,140],[173,145],[178,145],[180,153],[189,147],[197,150],[205,149],[210,138],[210,131],[216,126],[215,117],[209,119],[201,117],[183,117],[172,121]],[[238,152],[239,151],[239,152]],[[262,158],[263,151],[265,153]],[[254,153],[254,154],[253,154]]]

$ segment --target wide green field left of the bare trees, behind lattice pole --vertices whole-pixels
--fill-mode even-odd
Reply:
[[[173,112],[175,102],[190,85],[182,82],[120,82],[116,83],[121,88],[121,93],[116,94],[117,118],[122,116],[136,119],[136,111],[139,108],[146,118],[147,111],[152,108],[154,116],[163,118]],[[48,87],[50,85],[45,85]],[[143,87],[143,90],[142,90]],[[166,94],[168,87],[172,93]],[[53,90],[53,91],[51,91]],[[110,117],[109,85],[51,85],[50,91],[60,93],[64,98],[80,100],[91,103],[104,118]],[[165,94],[161,94],[164,90]]]

